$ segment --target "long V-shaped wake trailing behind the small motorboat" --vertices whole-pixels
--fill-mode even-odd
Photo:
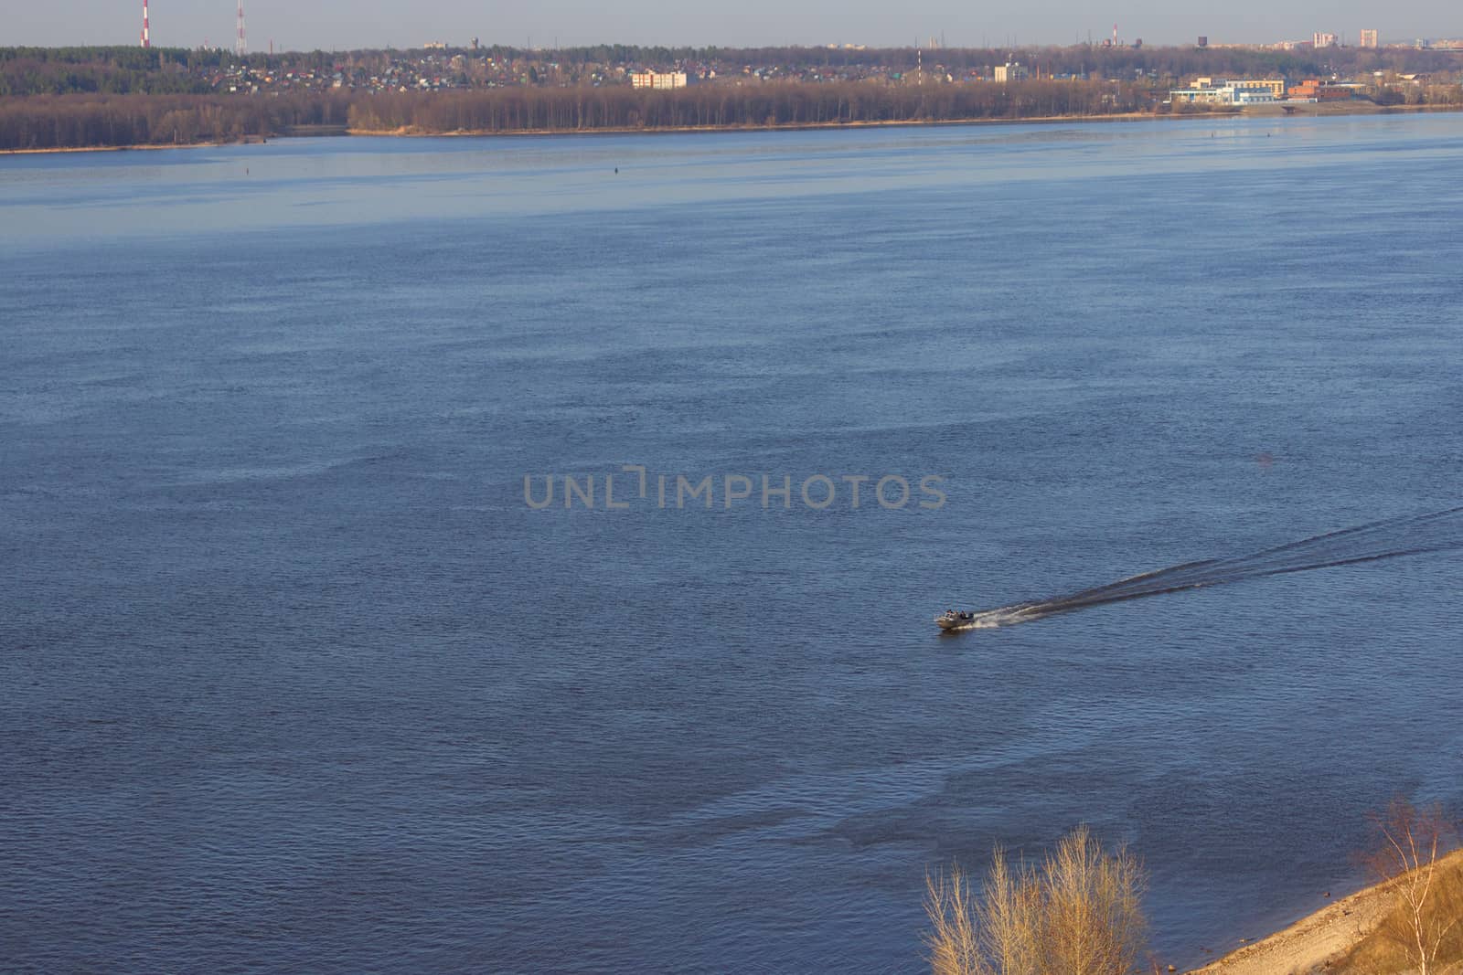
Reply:
[[[1287,572],[1330,569],[1350,566],[1397,555],[1416,555],[1431,551],[1463,548],[1463,507],[1429,515],[1404,515],[1355,528],[1343,528],[1324,535],[1312,535],[1301,541],[1264,548],[1249,555],[1230,558],[1206,558],[1186,561],[1167,569],[1156,569],[1128,579],[1119,579],[1105,586],[1083,589],[1065,596],[1037,602],[1015,602],[995,610],[979,610],[961,617],[961,624],[947,627],[954,630],[982,630],[999,626],[1030,623],[1058,612],[1086,610],[1125,599],[1141,599],[1165,592],[1220,586],[1227,582],[1244,582],[1263,576],[1279,576]]]

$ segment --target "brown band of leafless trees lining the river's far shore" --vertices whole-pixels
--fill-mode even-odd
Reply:
[[[367,132],[581,132],[691,126],[806,126],[1107,115],[1146,111],[1138,85],[778,83],[631,88],[500,88],[459,92],[44,95],[0,99],[0,149],[190,145],[269,136],[294,126]]]

